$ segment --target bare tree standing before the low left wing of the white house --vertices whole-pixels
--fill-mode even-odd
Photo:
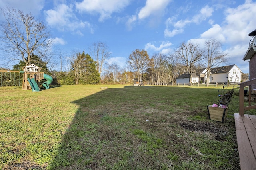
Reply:
[[[198,44],[182,43],[177,51],[176,55],[179,57],[180,62],[186,66],[189,75],[189,82],[191,83],[192,72],[195,70],[195,64],[203,59],[203,50],[200,49]]]

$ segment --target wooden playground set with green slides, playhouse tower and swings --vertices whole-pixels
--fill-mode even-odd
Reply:
[[[44,86],[46,89],[49,89],[49,84],[52,83],[53,78],[49,76],[48,74],[44,74],[44,72],[40,72],[40,69],[38,66],[34,64],[30,64],[27,66],[22,67],[23,71],[10,71],[10,70],[0,70],[1,72],[1,87],[2,87],[2,73],[5,74],[5,81],[11,82],[14,80],[14,85],[16,86],[16,76],[15,73],[19,73],[19,86],[20,86],[20,73],[23,73],[23,82],[22,82],[22,89],[24,90],[32,90],[33,92],[38,92],[39,87],[38,84],[40,80],[45,79],[46,81],[42,83],[42,86]],[[14,73],[14,78],[12,77],[12,72]],[[9,76],[10,73],[10,76]]]

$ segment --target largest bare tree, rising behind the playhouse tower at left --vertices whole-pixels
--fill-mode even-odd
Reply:
[[[51,39],[44,23],[14,8],[2,11],[5,21],[0,28],[1,49],[6,51],[9,61],[24,61],[28,65],[33,63],[32,55],[47,61]]]

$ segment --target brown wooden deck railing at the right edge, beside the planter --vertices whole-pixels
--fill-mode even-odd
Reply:
[[[244,106],[244,87],[248,86],[248,106]],[[252,87],[256,87],[256,78],[252,80],[248,80],[246,82],[242,82],[239,84],[239,114],[244,115],[245,110],[256,109],[256,104],[252,104]]]

